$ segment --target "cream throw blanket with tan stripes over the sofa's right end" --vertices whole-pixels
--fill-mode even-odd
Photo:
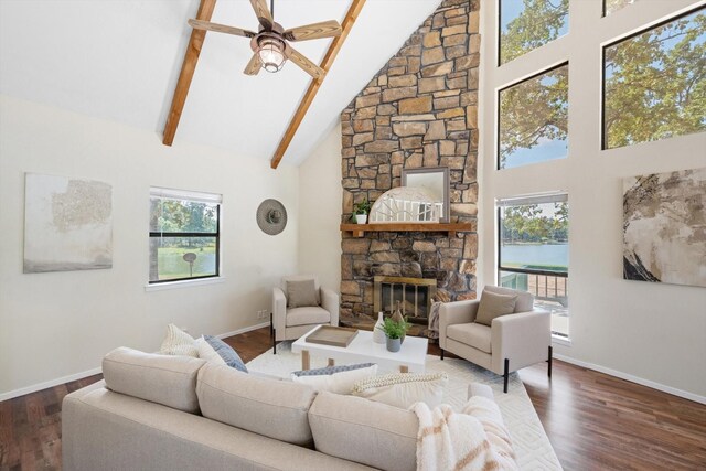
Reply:
[[[417,471],[517,470],[498,405],[471,397],[461,414],[442,404],[411,406],[419,418]]]

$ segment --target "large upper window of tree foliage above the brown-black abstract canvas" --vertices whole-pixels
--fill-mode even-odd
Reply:
[[[706,130],[705,11],[603,49],[603,149]]]

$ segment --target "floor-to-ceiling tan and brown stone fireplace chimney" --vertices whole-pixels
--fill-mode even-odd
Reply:
[[[470,227],[452,234],[366,231],[362,237],[342,232],[343,324],[374,323],[376,312],[389,311],[386,291],[375,302],[375,277],[436,282],[436,295],[422,295],[426,312],[431,298],[475,298],[478,32],[478,0],[443,0],[341,114],[342,223],[354,203],[399,186],[403,169],[445,167],[450,223]],[[407,300],[408,289],[393,300]]]

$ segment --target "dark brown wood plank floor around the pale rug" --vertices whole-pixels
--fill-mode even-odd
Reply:
[[[248,362],[270,347],[269,329],[226,342]],[[706,470],[706,406],[559,361],[550,381],[546,365],[520,376],[564,469]],[[98,379],[0,403],[0,471],[61,469],[61,402]]]

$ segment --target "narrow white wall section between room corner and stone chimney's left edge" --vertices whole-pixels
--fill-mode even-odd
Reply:
[[[299,168],[299,272],[341,287],[341,124]]]

